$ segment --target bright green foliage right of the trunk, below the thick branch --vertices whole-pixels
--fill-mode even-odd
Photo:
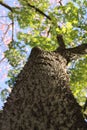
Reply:
[[[87,97],[87,57],[74,63],[71,68],[71,89],[81,105]]]

